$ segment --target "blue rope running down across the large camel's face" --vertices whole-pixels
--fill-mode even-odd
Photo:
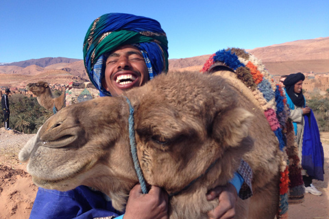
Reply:
[[[136,149],[136,140],[135,140],[135,128],[134,128],[134,108],[132,107],[132,104],[130,103],[130,100],[125,96],[127,99],[127,103],[129,105],[129,140],[130,140],[130,150],[132,152],[132,159],[134,160],[134,166],[136,170],[136,174],[139,180],[139,183],[141,183],[142,192],[143,194],[147,194],[149,191],[146,188],[146,182],[143,176],[143,172],[141,170],[141,166],[138,162],[137,157],[137,149]]]

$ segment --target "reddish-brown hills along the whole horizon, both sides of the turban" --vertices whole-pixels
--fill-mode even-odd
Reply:
[[[214,53],[221,48],[214,49]],[[329,73],[329,37],[297,40],[247,50],[254,54],[271,75],[289,73]],[[169,60],[169,70],[200,70],[211,54]],[[0,65],[1,86],[23,86],[45,80],[49,83],[86,81],[83,60],[45,57]]]

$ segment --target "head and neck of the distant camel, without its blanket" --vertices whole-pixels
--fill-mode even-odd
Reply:
[[[26,90],[31,91],[36,95],[38,103],[51,112],[57,112],[65,107],[65,90],[56,98],[53,98],[49,84],[45,81],[38,81],[38,83],[29,83]]]

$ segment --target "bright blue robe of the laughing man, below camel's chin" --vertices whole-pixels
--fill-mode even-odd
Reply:
[[[67,192],[39,188],[36,196],[30,219],[85,219],[123,214],[114,209],[101,192],[84,185]]]

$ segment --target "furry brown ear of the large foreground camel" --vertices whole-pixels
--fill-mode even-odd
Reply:
[[[237,146],[248,136],[253,118],[253,114],[240,107],[217,114],[212,136],[223,145]]]

